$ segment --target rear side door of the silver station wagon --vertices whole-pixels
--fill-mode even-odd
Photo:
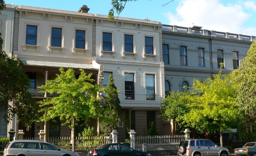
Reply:
[[[38,142],[28,142],[24,153],[26,156],[42,156],[42,150]]]

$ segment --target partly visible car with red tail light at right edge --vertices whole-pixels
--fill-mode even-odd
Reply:
[[[243,145],[241,148],[236,148],[236,155],[244,155],[244,156],[256,156],[256,142],[249,142]]]

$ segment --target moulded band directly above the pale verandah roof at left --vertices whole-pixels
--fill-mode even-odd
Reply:
[[[26,60],[40,60],[40,61],[56,61],[56,62],[92,64],[92,59],[63,58],[63,57],[37,56],[37,55],[27,55],[27,54],[18,54],[18,58],[19,59],[26,59]]]

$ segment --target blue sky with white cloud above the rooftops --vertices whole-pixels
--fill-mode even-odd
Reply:
[[[256,0],[138,0],[127,2],[120,17],[159,21],[162,24],[256,36]],[[14,5],[77,11],[82,5],[89,13],[107,15],[111,0],[5,0]],[[53,3],[54,2],[54,3]]]

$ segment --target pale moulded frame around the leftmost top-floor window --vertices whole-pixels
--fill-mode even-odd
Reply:
[[[34,25],[37,26],[37,33],[36,33],[36,45],[33,44],[26,44],[26,36],[27,36],[27,25]],[[36,52],[39,52],[39,24],[37,23],[25,23],[25,28],[24,28],[24,37],[23,37],[23,44],[22,48],[24,51],[27,51],[27,47],[36,47]]]

